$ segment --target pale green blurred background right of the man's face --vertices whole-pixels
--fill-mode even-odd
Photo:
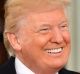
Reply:
[[[68,12],[72,51],[67,68],[80,72],[80,0],[70,0]]]

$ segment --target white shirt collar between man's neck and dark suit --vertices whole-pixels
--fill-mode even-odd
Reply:
[[[29,68],[27,68],[17,57],[15,58],[15,69],[17,74],[35,74]],[[56,74],[58,74],[58,72]]]

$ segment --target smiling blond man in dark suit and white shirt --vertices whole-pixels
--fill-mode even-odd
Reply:
[[[0,74],[78,74],[62,69],[70,34],[62,0],[7,0],[4,41],[14,57]]]

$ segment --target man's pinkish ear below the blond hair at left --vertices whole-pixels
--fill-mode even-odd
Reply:
[[[7,33],[7,38],[14,50],[16,51],[21,50],[20,43],[14,33]]]

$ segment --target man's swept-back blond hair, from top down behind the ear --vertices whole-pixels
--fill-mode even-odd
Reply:
[[[6,33],[16,32],[17,21],[25,13],[34,11],[46,11],[55,8],[55,6],[64,5],[65,0],[7,0],[5,4],[5,27],[4,44],[12,52],[11,45],[7,39]]]

